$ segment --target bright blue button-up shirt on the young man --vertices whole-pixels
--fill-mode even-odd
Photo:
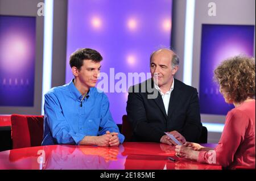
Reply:
[[[53,87],[44,95],[44,136],[42,145],[79,144],[85,136],[101,136],[106,131],[119,133],[109,111],[104,92],[91,87],[84,99],[73,81]]]

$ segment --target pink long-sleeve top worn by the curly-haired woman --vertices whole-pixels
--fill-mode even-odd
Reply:
[[[255,168],[255,100],[228,112],[217,147],[214,151],[200,151],[197,161],[228,169]]]

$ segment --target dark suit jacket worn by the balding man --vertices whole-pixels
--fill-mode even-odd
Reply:
[[[149,85],[155,89],[152,79],[129,89],[126,111],[133,127],[132,141],[160,142],[164,132],[177,131],[187,141],[198,142],[202,124],[197,90],[174,79],[167,116],[160,92],[156,99],[148,99],[150,92],[143,91]]]

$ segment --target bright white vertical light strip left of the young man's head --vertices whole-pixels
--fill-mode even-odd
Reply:
[[[43,85],[42,115],[44,114],[44,94],[52,85],[52,34],[53,34],[53,0],[44,1],[44,49],[43,49]]]

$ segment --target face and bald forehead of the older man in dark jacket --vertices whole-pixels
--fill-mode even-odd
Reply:
[[[163,49],[155,52],[151,58],[150,72],[154,82],[158,83],[159,87],[171,86],[172,79],[177,71],[177,66],[173,68],[171,64],[172,55],[171,50]]]

